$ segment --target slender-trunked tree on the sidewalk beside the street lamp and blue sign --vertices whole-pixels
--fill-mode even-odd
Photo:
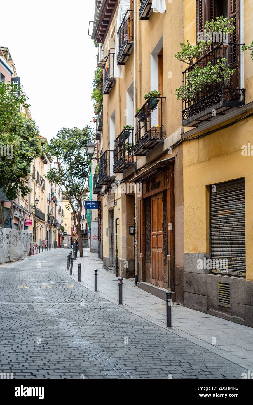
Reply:
[[[81,208],[88,192],[90,175],[90,158],[86,153],[86,145],[93,141],[94,130],[90,126],[83,129],[62,128],[47,147],[47,153],[56,158],[57,166],[46,177],[49,181],[58,183],[69,200],[79,240],[80,257],[84,256],[81,244]]]

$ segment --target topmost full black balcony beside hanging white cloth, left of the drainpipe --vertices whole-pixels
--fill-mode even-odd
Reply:
[[[128,10],[123,18],[118,35],[117,64],[124,65],[133,50],[133,11]]]

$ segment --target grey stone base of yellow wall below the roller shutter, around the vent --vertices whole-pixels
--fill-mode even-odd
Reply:
[[[201,253],[184,254],[184,306],[253,327],[253,281],[198,270]],[[231,283],[231,308],[218,305],[218,282]]]

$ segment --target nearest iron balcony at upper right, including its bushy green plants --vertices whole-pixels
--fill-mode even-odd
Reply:
[[[176,97],[182,100],[182,126],[199,127],[206,122],[215,124],[217,117],[245,103],[245,90],[240,86],[240,54],[243,45],[233,39],[233,19],[217,17],[207,21],[210,41],[197,45],[181,43],[175,57],[189,66],[182,73],[182,86]],[[214,35],[221,33],[216,42]],[[219,37],[218,37],[219,38]]]

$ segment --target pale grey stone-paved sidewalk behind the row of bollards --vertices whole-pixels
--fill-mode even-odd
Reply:
[[[66,257],[70,251],[66,249]],[[77,280],[81,263],[81,284],[94,291],[94,269],[98,269],[97,294],[117,304],[118,278],[103,269],[97,253],[84,249],[84,256],[74,260],[73,279]],[[123,308],[166,328],[165,301],[135,286],[134,279],[123,279]],[[170,331],[253,371],[253,328],[173,303]]]

